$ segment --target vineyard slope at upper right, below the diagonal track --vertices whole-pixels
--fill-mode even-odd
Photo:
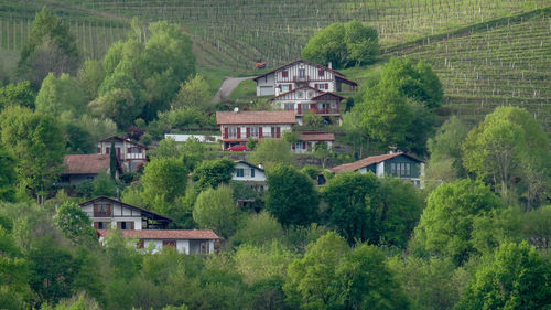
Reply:
[[[551,128],[551,12],[403,51],[437,72],[446,107],[479,120],[516,105]]]

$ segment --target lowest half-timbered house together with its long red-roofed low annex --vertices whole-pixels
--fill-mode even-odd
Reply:
[[[137,248],[149,247],[153,253],[173,246],[184,254],[214,253],[219,237],[210,229],[168,229],[171,218],[121,201],[99,196],[79,204],[97,231],[99,242],[111,229],[125,238],[137,240]]]

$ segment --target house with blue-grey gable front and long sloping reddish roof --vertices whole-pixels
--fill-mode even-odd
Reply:
[[[357,171],[359,173],[372,172],[379,178],[385,175],[409,180],[421,186],[424,175],[424,162],[404,152],[372,156],[355,162],[341,164],[329,169],[333,173]]]

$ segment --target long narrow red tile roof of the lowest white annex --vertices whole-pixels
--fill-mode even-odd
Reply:
[[[109,231],[98,229],[100,236],[105,237]],[[210,229],[141,229],[141,231],[121,231],[125,238],[139,239],[219,239]]]

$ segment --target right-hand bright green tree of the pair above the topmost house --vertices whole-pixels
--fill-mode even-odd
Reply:
[[[348,53],[348,62],[355,65],[374,63],[379,55],[377,30],[366,26],[357,20],[344,24],[344,43]]]

